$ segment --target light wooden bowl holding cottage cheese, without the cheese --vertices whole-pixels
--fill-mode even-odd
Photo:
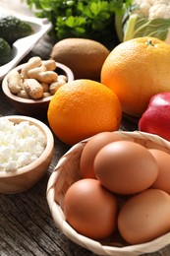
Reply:
[[[29,125],[35,125],[46,139],[45,150],[38,159],[14,171],[0,170],[0,193],[15,194],[23,192],[32,187],[47,172],[53,157],[53,135],[44,123],[32,117],[9,115],[0,118],[7,118],[15,124],[28,121]]]

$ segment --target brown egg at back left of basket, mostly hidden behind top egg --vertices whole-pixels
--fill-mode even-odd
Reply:
[[[85,144],[81,157],[81,175],[84,178],[95,178],[93,161],[99,150],[114,141],[120,141],[121,137],[114,132],[102,132],[94,135]]]

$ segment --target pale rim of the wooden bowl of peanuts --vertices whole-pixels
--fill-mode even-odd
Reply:
[[[27,63],[21,64],[21,65],[17,66],[16,68],[12,69],[11,71],[13,71],[13,70],[21,70],[26,64]],[[68,66],[66,66],[66,65],[64,65],[64,64],[62,64],[60,62],[56,62],[56,69],[57,68],[62,69],[67,74],[68,82],[71,82],[71,81],[74,80],[73,71]],[[5,96],[8,96],[10,99],[12,99],[12,100],[14,100],[16,102],[27,103],[27,104],[30,104],[30,103],[39,104],[39,103],[48,102],[48,101],[51,100],[52,96],[47,96],[47,97],[43,97],[43,98],[35,100],[35,99],[32,99],[32,98],[24,98],[24,97],[20,97],[20,96],[16,96],[16,95],[12,94],[10,92],[9,88],[8,88],[8,85],[7,85],[8,74],[5,76],[5,78],[2,81],[2,91],[3,91]]]

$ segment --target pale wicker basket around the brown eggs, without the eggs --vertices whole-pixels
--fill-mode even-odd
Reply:
[[[156,136],[142,132],[114,132],[124,140],[134,141],[146,148],[161,149],[170,154],[170,143]],[[147,243],[127,245],[125,243],[100,243],[79,234],[65,221],[62,211],[63,198],[69,186],[80,179],[79,164],[86,139],[71,148],[59,161],[51,174],[47,186],[47,202],[52,218],[61,231],[75,243],[85,247],[97,255],[141,255],[157,251],[170,243],[170,232]]]

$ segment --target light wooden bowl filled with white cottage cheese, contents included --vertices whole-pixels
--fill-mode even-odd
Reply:
[[[53,158],[54,138],[33,117],[0,117],[0,193],[24,192],[39,181]]]

